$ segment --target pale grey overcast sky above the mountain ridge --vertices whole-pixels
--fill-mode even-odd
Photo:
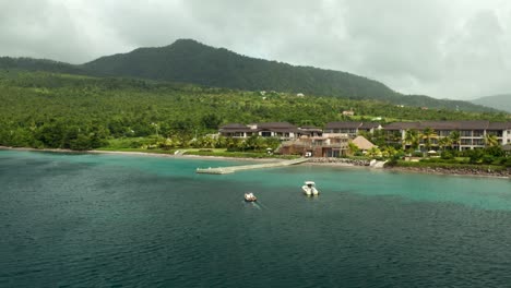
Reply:
[[[511,93],[508,0],[0,0],[0,56],[83,63],[179,38],[405,94]]]

